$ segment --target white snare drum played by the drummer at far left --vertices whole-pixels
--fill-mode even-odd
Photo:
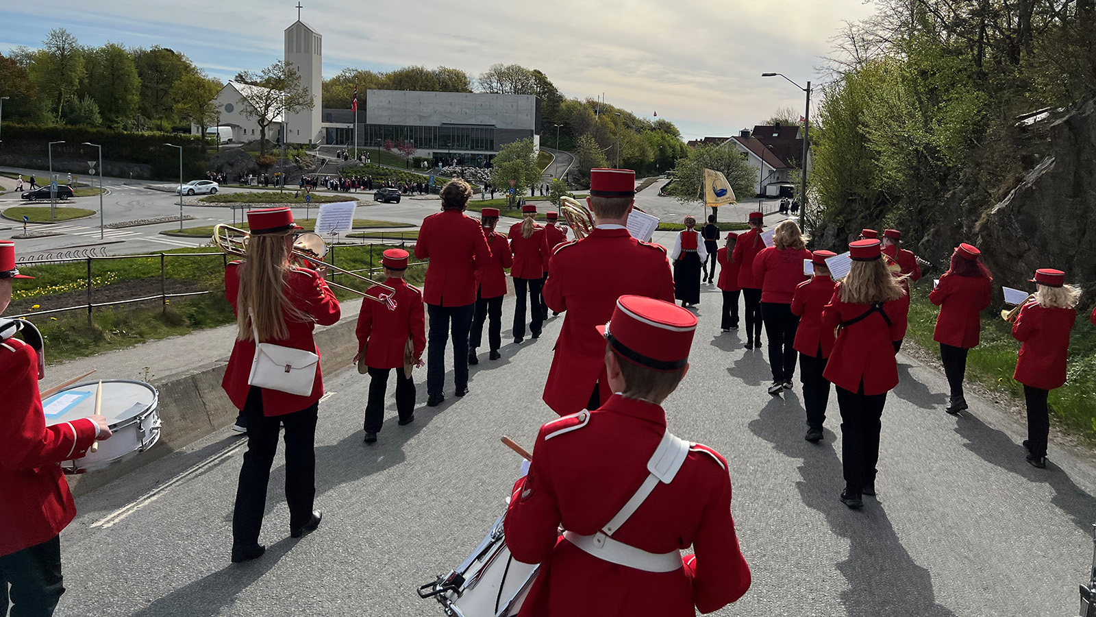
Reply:
[[[95,413],[98,382],[89,381],[61,390],[42,402],[46,425],[55,425]],[[127,461],[151,448],[160,439],[160,416],[156,408],[156,389],[141,381],[112,379],[103,381],[103,404],[100,413],[111,427],[110,439],[99,442],[98,452],[68,461],[66,472],[82,473]]]

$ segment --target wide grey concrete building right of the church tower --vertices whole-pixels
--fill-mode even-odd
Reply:
[[[353,145],[352,111],[323,110],[322,121],[328,144]],[[502,146],[529,137],[540,148],[540,101],[532,94],[369,90],[357,121],[359,148],[409,142],[415,156],[438,162],[482,167]]]

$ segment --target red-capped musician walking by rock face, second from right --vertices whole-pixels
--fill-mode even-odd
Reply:
[[[944,411],[952,415],[967,408],[962,392],[967,354],[978,347],[982,311],[990,305],[993,274],[979,259],[981,255],[978,248],[960,244],[951,254],[950,268],[928,294],[929,302],[940,307],[933,340],[940,344],[940,361],[951,389]]]

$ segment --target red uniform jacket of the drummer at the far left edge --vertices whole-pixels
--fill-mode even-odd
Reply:
[[[38,357],[18,338],[0,341],[0,385],[2,557],[53,539],[72,521],[76,504],[57,463],[84,456],[98,429],[90,419],[46,426]]]

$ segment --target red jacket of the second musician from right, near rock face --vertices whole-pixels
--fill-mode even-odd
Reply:
[[[978,347],[981,313],[990,306],[990,279],[946,273],[928,300],[940,307],[933,340],[967,349]]]

